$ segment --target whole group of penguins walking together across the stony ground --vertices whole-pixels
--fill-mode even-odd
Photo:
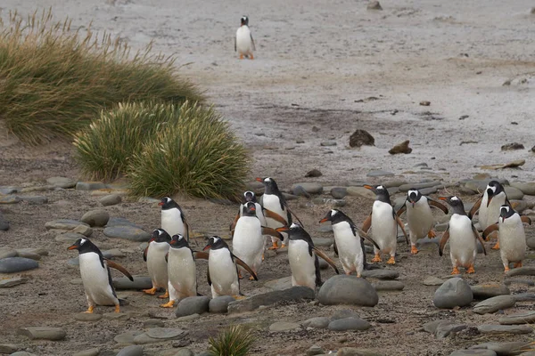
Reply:
[[[257,274],[264,259],[266,236],[271,238],[269,249],[288,247],[288,261],[292,271],[292,286],[306,286],[315,290],[321,286],[318,256],[324,259],[336,273],[335,263],[314,243],[299,218],[292,213],[283,193],[272,178],[257,178],[264,184],[261,204],[252,191],[243,193],[235,221],[230,225],[233,236],[232,250],[225,240],[211,236],[202,251],[193,251],[189,246],[189,224],[177,202],[171,198],[161,199],[161,228],[152,231],[152,238],[144,250],[144,261],[152,279],[152,288],[144,293],[155,295],[163,288],[169,302],[161,304],[170,308],[179,300],[197,294],[196,259],[208,260],[208,283],[212,297],[232,295],[240,299],[240,279],[248,273],[251,280],[258,280]],[[340,210],[330,210],[319,223],[331,222],[333,226],[334,253],[338,255],[343,271],[350,275],[355,272],[361,277],[366,268],[365,239],[374,247],[373,263],[382,262],[381,255],[389,255],[386,263],[396,263],[398,228],[403,232],[407,244],[410,241],[411,254],[416,255],[416,241],[435,237],[432,228],[434,219],[432,207],[445,214],[448,207],[438,201],[425,197],[417,189],[407,191],[405,204],[396,212],[391,205],[388,190],[383,185],[364,185],[375,193],[372,211],[359,229],[350,217]],[[531,224],[527,216],[514,211],[506,197],[506,191],[497,181],[489,182],[481,198],[467,214],[460,198],[440,197],[451,206],[452,214],[448,229],[440,239],[439,254],[449,241],[449,255],[453,270],[459,274],[459,267],[466,273],[474,272],[477,241],[481,243],[486,255],[483,239],[498,231],[498,243],[505,271],[514,263],[513,268],[522,266],[526,250],[523,223]],[[401,214],[407,214],[408,236]],[[482,237],[473,225],[472,217],[479,214]],[[293,218],[298,223],[293,222]],[[371,228],[371,236],[367,232]],[[120,301],[111,283],[110,268],[117,269],[129,279],[132,276],[118,263],[105,258],[102,252],[89,239],[78,239],[69,249],[78,249],[79,267],[86,291],[88,309],[93,312],[95,305],[115,305],[119,312]],[[207,252],[208,251],[208,252]]]

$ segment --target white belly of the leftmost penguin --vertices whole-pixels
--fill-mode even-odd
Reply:
[[[119,300],[113,295],[108,278],[107,266],[100,262],[95,253],[79,255],[80,275],[86,290],[87,300],[97,305],[117,305]]]

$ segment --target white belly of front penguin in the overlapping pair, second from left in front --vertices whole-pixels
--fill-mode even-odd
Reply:
[[[195,261],[189,248],[169,248],[168,274],[178,297],[197,295]]]

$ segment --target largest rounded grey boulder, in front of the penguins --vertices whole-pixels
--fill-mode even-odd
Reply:
[[[324,305],[374,306],[379,303],[379,295],[366,279],[336,275],[325,281],[317,293],[317,300]]]

